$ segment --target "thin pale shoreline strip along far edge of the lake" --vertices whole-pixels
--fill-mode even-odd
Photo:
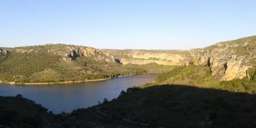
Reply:
[[[141,73],[141,74],[137,74],[137,75],[150,74],[150,73],[155,73],[155,72]],[[134,75],[117,76],[117,77],[115,77],[115,78],[124,77],[124,76],[136,76],[136,74],[134,74]],[[112,78],[112,79],[115,79],[115,78]],[[14,83],[14,82],[5,83],[5,82],[0,81],[0,84],[10,84],[10,85],[49,85],[49,84],[69,84],[69,83],[104,81],[104,80],[108,80],[108,79],[111,79],[111,78],[95,79],[95,80],[84,80],[84,81],[65,81],[65,82],[58,82],[58,83],[24,83],[24,84],[21,84],[21,83]]]

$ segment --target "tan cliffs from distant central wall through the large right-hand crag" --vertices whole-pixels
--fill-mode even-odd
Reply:
[[[212,75],[219,80],[250,78],[249,68],[256,65],[256,36],[216,43],[212,46],[181,50],[102,50],[113,54],[122,64],[188,65],[209,66]]]

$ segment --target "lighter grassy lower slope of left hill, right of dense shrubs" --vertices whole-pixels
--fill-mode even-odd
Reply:
[[[123,75],[145,73],[143,69],[130,69],[117,63],[96,61],[92,57],[77,57],[76,60],[59,60],[50,68],[33,76],[37,82],[85,81],[115,78]],[[47,74],[47,76],[45,76]]]

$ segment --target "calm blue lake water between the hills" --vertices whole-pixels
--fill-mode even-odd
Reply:
[[[16,96],[36,101],[53,113],[72,112],[76,108],[87,108],[102,102],[104,98],[117,98],[121,90],[151,83],[158,74],[125,76],[105,81],[93,81],[51,85],[0,84],[0,96]]]

